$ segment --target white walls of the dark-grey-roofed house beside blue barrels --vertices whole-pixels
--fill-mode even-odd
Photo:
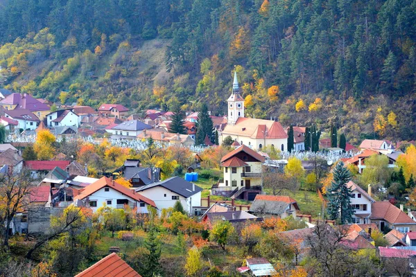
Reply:
[[[194,209],[191,209],[191,206],[195,207],[201,205],[201,192],[192,195],[188,199],[182,195],[173,193],[171,190],[168,190],[162,186],[149,188],[139,193],[145,197],[148,197],[148,199],[152,199],[155,202],[159,213],[162,211],[162,208],[173,208],[175,202],[177,202],[177,199],[172,199],[173,196],[179,196],[180,203],[184,207],[184,210],[188,213],[193,213]]]

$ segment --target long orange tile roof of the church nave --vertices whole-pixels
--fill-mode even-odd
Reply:
[[[261,132],[263,131],[263,132]],[[264,137],[265,132],[266,138]],[[234,134],[247,136],[252,139],[287,139],[288,135],[284,132],[280,123],[273,120],[245,118],[237,119],[235,125],[228,124],[223,134]]]

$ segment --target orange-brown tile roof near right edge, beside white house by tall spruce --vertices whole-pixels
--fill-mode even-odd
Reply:
[[[388,201],[377,201],[371,204],[372,220],[385,220],[390,224],[413,223],[413,221],[404,211],[397,206],[390,204]]]

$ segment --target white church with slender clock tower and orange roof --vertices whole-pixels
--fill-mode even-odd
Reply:
[[[244,99],[240,94],[236,72],[232,93],[227,102],[228,123],[220,133],[221,143],[227,136],[231,136],[234,141],[255,150],[261,150],[265,146],[272,146],[281,151],[287,150],[288,135],[279,122],[244,117]]]

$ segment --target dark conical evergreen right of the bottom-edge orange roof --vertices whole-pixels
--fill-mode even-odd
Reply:
[[[145,242],[148,253],[144,256],[144,269],[141,273],[144,277],[153,277],[162,274],[160,265],[160,242],[157,240],[155,229],[151,228],[148,232],[148,238]]]

